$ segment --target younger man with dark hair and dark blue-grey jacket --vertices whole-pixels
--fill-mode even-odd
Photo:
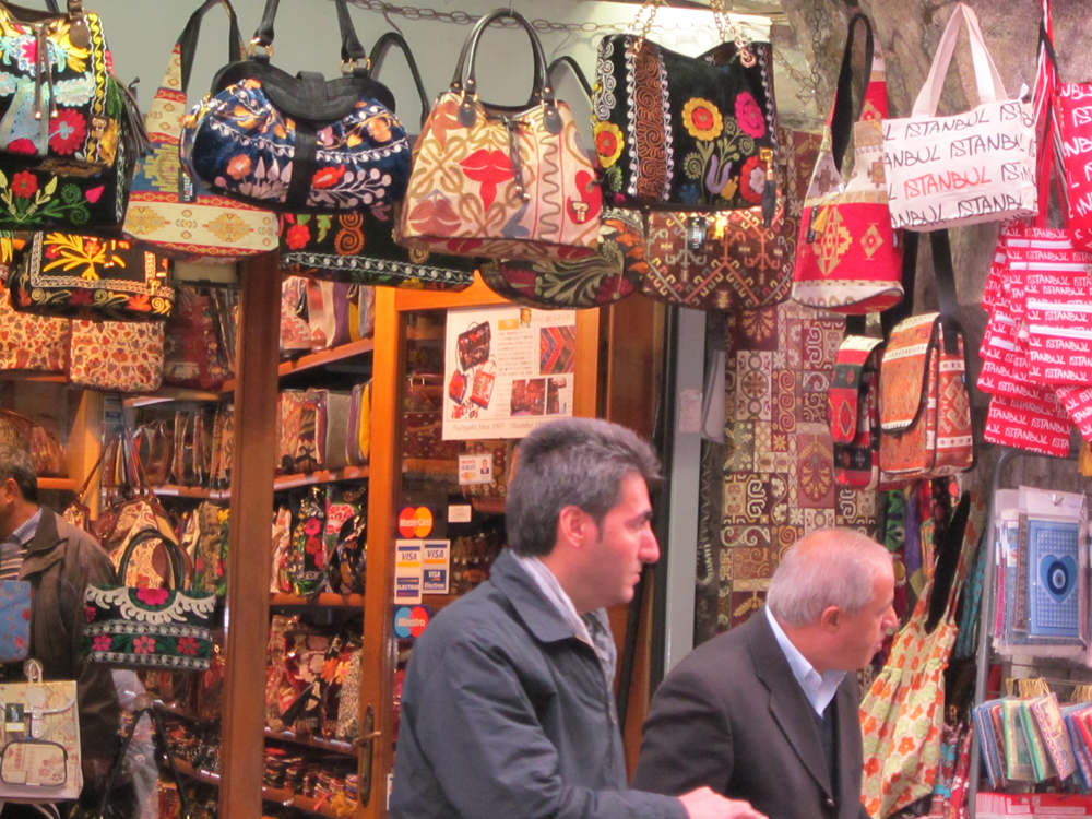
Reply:
[[[660,557],[649,446],[614,424],[538,427],[509,483],[510,549],[417,641],[392,819],[764,819],[708,787],[627,790],[606,606]]]

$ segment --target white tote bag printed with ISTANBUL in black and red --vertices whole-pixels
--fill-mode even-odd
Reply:
[[[938,117],[964,22],[978,105],[966,114]],[[1033,106],[1008,98],[978,19],[963,3],[948,21],[911,116],[883,122],[883,170],[895,228],[933,230],[1036,213]]]

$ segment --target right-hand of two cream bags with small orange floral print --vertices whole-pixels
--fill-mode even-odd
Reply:
[[[103,392],[155,392],[163,384],[163,323],[72,320],[69,383]]]

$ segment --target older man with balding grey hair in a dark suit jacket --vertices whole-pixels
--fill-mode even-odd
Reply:
[[[770,819],[867,819],[856,674],[898,626],[890,553],[850,530],[792,546],[767,605],[656,690],[633,787],[708,786]]]

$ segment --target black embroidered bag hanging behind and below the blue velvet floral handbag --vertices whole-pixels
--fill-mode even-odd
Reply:
[[[385,32],[371,48],[371,76],[383,55],[397,46],[410,64],[420,98],[420,124],[429,102],[410,45],[397,32]],[[411,140],[414,138],[411,136]],[[358,213],[284,214],[281,216],[281,269],[331,282],[359,283],[427,290],[462,290],[474,283],[474,260],[428,251],[410,251],[394,242],[401,205]]]

